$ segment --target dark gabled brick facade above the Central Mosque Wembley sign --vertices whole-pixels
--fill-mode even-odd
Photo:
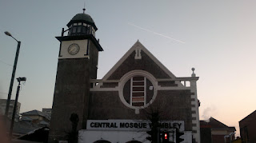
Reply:
[[[138,50],[141,54],[139,59],[136,58]],[[130,103],[130,81],[136,76],[147,78],[146,105],[142,107],[134,107]],[[146,109],[160,107],[164,114],[162,121],[184,121],[185,131],[192,133],[200,142],[197,80],[195,74],[181,79],[175,77],[140,42],[136,42],[105,77],[91,81],[94,86],[90,89],[88,119],[147,120]],[[182,85],[181,81],[190,81],[190,86]],[[154,92],[150,94],[148,88],[151,85]]]

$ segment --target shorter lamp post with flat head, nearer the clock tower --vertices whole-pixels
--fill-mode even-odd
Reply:
[[[13,117],[11,118],[11,123],[10,123],[10,133],[9,133],[10,140],[12,138],[13,129],[14,129],[14,119],[15,119],[16,108],[17,108],[17,103],[18,103],[18,93],[19,93],[19,89],[21,88],[21,81],[26,81],[26,77],[18,77],[17,81],[18,81],[18,87],[17,87],[16,97],[15,97],[15,102],[14,102],[14,112],[13,112]]]

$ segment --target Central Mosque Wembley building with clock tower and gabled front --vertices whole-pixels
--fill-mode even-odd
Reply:
[[[190,77],[176,77],[138,41],[97,79],[103,49],[94,20],[83,12],[66,26],[56,37],[60,47],[50,143],[66,142],[72,129],[78,130],[80,143],[149,143],[151,111],[158,112],[158,132],[168,133],[168,141],[200,143],[194,68]],[[184,133],[181,139],[178,132]]]

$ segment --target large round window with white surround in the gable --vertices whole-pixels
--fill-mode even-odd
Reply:
[[[157,95],[157,81],[144,70],[133,70],[120,79],[119,97],[131,109],[143,109],[150,105]]]

